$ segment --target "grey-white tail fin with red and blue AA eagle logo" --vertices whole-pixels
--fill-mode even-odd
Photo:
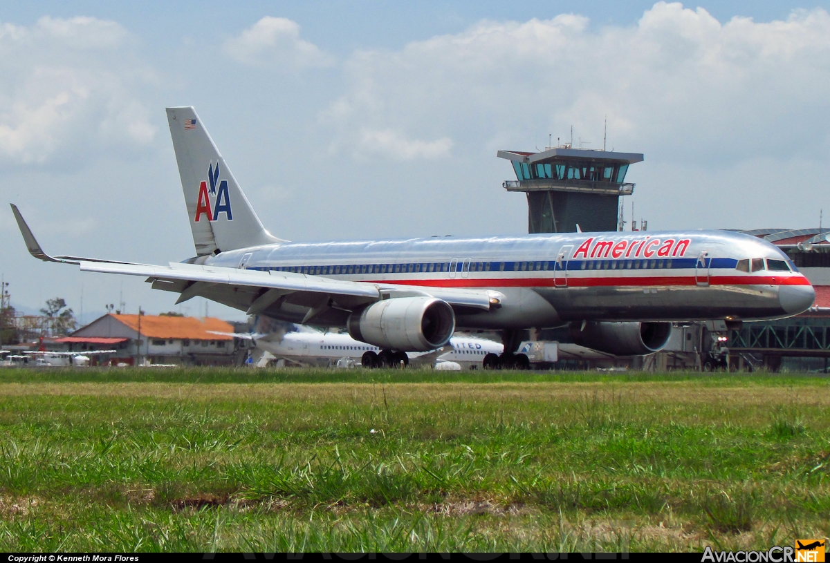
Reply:
[[[168,108],[167,120],[196,253],[282,242],[262,226],[196,110]]]

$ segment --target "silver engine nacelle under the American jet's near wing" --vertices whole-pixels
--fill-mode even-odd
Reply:
[[[397,297],[372,303],[349,315],[349,336],[401,352],[427,352],[450,341],[456,316],[434,297]]]

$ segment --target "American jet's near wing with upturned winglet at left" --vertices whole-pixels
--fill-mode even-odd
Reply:
[[[450,303],[457,310],[471,312],[489,311],[491,304],[499,303],[504,297],[491,289],[422,289],[276,270],[265,272],[176,262],[159,266],[77,256],[51,256],[42,250],[17,206],[13,204],[12,212],[27,249],[35,258],[78,265],[85,272],[143,276],[153,284],[153,289],[179,293],[177,303],[201,296],[242,309],[248,314],[263,313],[272,305],[279,304],[281,307],[287,305],[289,310],[294,307],[302,318],[300,323],[325,323],[327,320],[344,323],[352,309],[381,298],[428,295]]]

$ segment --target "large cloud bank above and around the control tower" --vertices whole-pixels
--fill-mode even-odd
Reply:
[[[830,109],[822,9],[721,23],[703,8],[657,2],[630,27],[593,28],[571,14],[486,21],[399,51],[356,52],[344,71],[347,91],[320,116],[336,150],[384,138],[367,131],[394,131],[489,153],[543,145],[548,133],[564,140],[571,125],[574,143],[602,148],[606,116],[608,148],[647,159],[818,158],[828,146],[817,119]]]

